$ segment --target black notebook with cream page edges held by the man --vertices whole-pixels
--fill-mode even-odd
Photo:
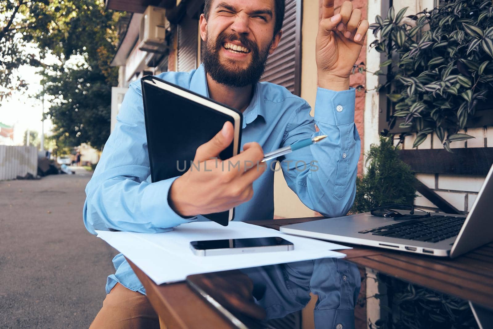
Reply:
[[[141,84],[152,182],[185,173],[197,147],[211,140],[226,121],[233,124],[234,138],[219,157],[228,159],[240,153],[240,111],[155,76],[143,77]],[[203,216],[226,226],[234,217],[234,208]]]

